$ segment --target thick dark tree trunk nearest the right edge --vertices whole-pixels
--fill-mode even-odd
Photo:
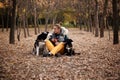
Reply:
[[[117,12],[117,0],[112,0],[113,7],[113,44],[119,43],[119,26],[118,26],[118,12]]]

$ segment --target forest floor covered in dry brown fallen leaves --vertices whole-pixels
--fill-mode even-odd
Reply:
[[[120,80],[120,44],[113,45],[112,32],[108,40],[107,31],[104,38],[69,31],[76,55],[61,57],[31,54],[36,35],[12,45],[9,33],[0,32],[0,80]]]

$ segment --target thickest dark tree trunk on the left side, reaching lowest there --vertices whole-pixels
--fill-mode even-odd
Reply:
[[[16,11],[16,0],[13,1],[13,9],[12,9],[12,20],[11,20],[11,28],[10,28],[10,38],[9,43],[14,44],[15,43],[15,11]]]

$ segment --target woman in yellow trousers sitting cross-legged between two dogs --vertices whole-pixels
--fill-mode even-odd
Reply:
[[[66,31],[68,33],[68,30],[64,29],[63,31],[59,24],[54,25],[53,32],[50,33],[45,40],[45,44],[49,52],[44,53],[44,57],[51,55],[58,56],[64,53],[65,41],[68,39]]]

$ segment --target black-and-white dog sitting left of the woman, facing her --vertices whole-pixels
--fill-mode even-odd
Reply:
[[[38,56],[40,52],[43,52],[45,46],[44,40],[47,38],[48,33],[49,32],[42,32],[37,36],[37,39],[34,43],[33,54],[36,54]]]

